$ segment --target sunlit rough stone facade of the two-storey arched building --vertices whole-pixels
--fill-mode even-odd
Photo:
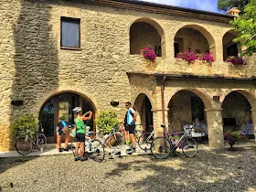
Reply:
[[[58,0],[2,1],[0,151],[12,146],[10,124],[16,117],[27,112],[38,117],[43,104],[61,92],[71,91],[91,101],[96,115],[101,110],[113,109],[121,119],[125,113],[124,102],[134,103],[137,96],[144,93],[152,104],[156,133],[161,133],[161,128],[158,128],[163,122],[161,83],[150,74],[254,76],[255,58],[247,67],[234,67],[223,62],[222,38],[232,27],[222,22],[221,16],[219,22],[216,19],[207,21],[197,19],[196,15],[193,18],[190,13],[187,13],[189,17],[171,16],[129,10],[129,5],[124,9],[118,5],[100,4]],[[79,50],[60,48],[61,16],[80,18]],[[135,22],[150,24],[159,32],[162,57],[155,63],[130,54],[129,33]],[[216,62],[189,65],[174,58],[173,42],[176,32],[182,27],[197,29],[208,39]],[[134,74],[127,75],[127,71]],[[145,74],[135,74],[138,71]],[[246,96],[256,123],[252,80],[165,80],[165,123],[168,123],[168,102],[180,90],[192,91],[204,101],[211,147],[223,145],[221,103],[230,91],[239,90]],[[213,101],[213,95],[218,95],[220,100]],[[119,101],[120,106],[113,108],[110,105],[112,100]],[[23,105],[12,105],[12,101],[23,101]]]

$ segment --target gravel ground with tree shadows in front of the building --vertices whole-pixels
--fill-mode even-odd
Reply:
[[[102,163],[74,162],[72,155],[2,158],[0,186],[2,191],[256,191],[255,165],[250,147],[199,151],[194,158],[132,155]]]

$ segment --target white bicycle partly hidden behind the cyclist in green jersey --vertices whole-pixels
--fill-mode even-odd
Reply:
[[[89,135],[92,135],[93,132],[89,132]],[[86,142],[84,144],[84,155],[88,153],[90,158],[93,161],[101,162],[105,158],[105,149],[104,145],[98,139],[91,139],[90,136],[85,136]],[[75,155],[76,144],[74,140],[71,142],[71,151]]]

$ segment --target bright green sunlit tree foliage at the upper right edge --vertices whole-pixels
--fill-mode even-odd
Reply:
[[[240,45],[246,47],[243,55],[252,55],[256,53],[256,0],[245,6],[244,14],[230,21],[240,36],[234,39],[234,42],[240,42]]]

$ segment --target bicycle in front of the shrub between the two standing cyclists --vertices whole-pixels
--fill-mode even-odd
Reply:
[[[115,146],[118,149],[122,148],[124,144],[124,136],[123,133],[121,133],[118,124],[112,128],[111,133],[105,134],[104,136],[102,135],[101,130],[99,130],[93,139],[95,138],[100,140],[101,144],[104,146],[106,146],[106,141],[108,141],[110,147]]]

